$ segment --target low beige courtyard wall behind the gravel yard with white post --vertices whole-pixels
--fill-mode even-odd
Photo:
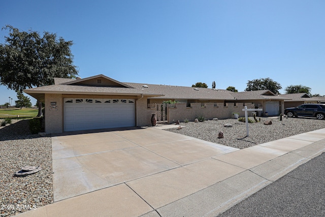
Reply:
[[[203,115],[207,119],[219,118],[233,118],[232,113],[239,113],[239,116],[245,116],[245,112],[242,111],[244,108],[243,103],[237,103],[234,106],[234,103],[226,103],[224,106],[223,103],[216,103],[217,107],[214,107],[214,103],[205,103],[204,107],[201,107],[201,103],[191,103],[190,107],[186,107],[186,103],[177,103],[175,108],[168,109],[168,121],[169,123],[174,123],[176,120],[184,121],[187,118],[190,121],[193,121],[198,116]],[[254,104],[246,103],[247,108],[255,108]],[[248,115],[252,115],[251,112],[248,112]]]

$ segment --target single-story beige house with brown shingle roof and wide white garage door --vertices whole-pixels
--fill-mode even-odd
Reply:
[[[269,115],[283,113],[284,100],[269,90],[231,92],[222,89],[125,83],[96,75],[88,78],[55,78],[53,85],[25,89],[45,103],[45,132],[149,126],[163,101],[177,101],[166,108],[166,121],[231,118],[242,108],[262,108]],[[159,106],[157,106],[159,105]],[[160,115],[160,113],[159,113]],[[159,116],[158,115],[158,116]],[[261,116],[261,114],[260,114]]]

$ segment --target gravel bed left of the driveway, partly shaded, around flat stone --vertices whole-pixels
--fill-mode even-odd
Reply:
[[[42,170],[25,177],[23,166]],[[0,216],[15,215],[53,203],[51,137],[31,135],[28,120],[0,127]]]

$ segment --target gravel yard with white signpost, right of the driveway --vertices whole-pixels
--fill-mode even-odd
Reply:
[[[250,117],[253,120],[253,117]],[[258,119],[258,117],[257,117]],[[264,125],[264,121],[271,120],[272,125]],[[226,123],[231,123],[233,127],[223,127]],[[283,118],[262,117],[261,122],[248,123],[249,137],[246,137],[245,122],[237,119],[206,120],[204,122],[181,122],[185,126],[167,129],[174,133],[191,136],[194,138],[231,146],[234,148],[247,148],[285,137],[306,133],[325,128],[325,120],[315,118]],[[218,139],[218,133],[222,132],[224,138]]]

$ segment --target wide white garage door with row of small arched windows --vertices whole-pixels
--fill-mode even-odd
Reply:
[[[64,131],[135,126],[134,99],[64,98]]]

